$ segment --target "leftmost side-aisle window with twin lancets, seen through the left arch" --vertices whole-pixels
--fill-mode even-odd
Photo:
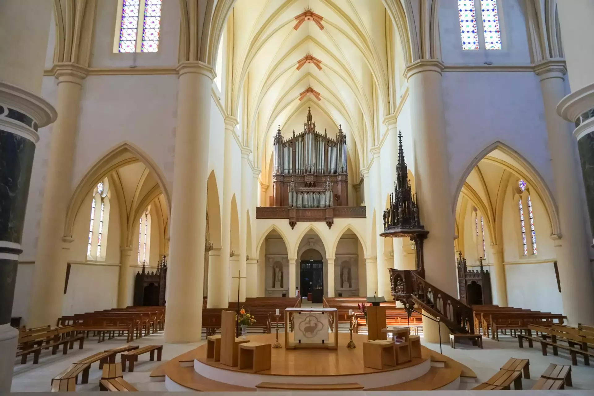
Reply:
[[[97,183],[91,201],[91,219],[89,222],[89,244],[87,245],[87,259],[105,260],[107,229],[109,223],[108,180]],[[99,213],[97,214],[97,210]],[[98,215],[97,220],[95,217]]]

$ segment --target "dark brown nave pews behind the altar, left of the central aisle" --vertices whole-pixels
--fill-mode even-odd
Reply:
[[[270,333],[276,324],[274,313],[280,310],[279,326],[285,325],[285,309],[301,306],[301,299],[296,297],[247,297],[245,302],[239,303],[239,308],[253,315],[256,323],[251,325],[260,328],[263,333]],[[202,327],[207,335],[213,335],[221,328],[221,311],[236,311],[236,302],[229,302],[229,308],[203,308]]]

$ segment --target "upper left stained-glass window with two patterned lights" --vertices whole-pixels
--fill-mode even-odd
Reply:
[[[162,0],[119,0],[113,52],[157,52]],[[138,24],[142,21],[142,26]],[[119,34],[118,34],[119,33]]]

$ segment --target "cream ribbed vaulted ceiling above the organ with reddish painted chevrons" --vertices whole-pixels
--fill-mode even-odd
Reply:
[[[389,113],[392,30],[383,2],[238,0],[228,24],[226,102],[257,166],[269,163],[278,125],[302,125],[310,106],[314,121],[323,121],[318,131],[333,137],[342,125],[350,160],[365,163]]]

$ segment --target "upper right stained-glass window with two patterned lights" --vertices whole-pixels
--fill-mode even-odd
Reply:
[[[475,7],[476,4],[481,7]],[[481,12],[477,18],[476,9]],[[458,17],[460,19],[460,34],[462,49],[480,49],[481,43],[485,49],[501,49],[501,31],[497,14],[497,0],[458,0]],[[479,42],[479,28],[482,27],[482,42]]]

